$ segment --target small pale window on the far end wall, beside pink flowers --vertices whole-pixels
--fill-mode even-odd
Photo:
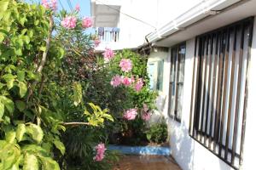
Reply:
[[[163,90],[164,60],[148,63],[149,88],[151,90]]]

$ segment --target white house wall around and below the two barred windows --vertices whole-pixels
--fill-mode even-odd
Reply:
[[[189,117],[191,103],[192,73],[194,65],[195,38],[186,41],[186,56],[184,70],[184,86],[183,86],[183,111],[181,122],[176,122],[172,118],[168,118],[168,130],[170,135],[170,145],[172,148],[172,156],[183,170],[230,170],[233,169],[224,161],[220,160],[207,150],[204,146],[196,142],[189,136]],[[158,54],[150,55],[154,57]],[[149,60],[150,60],[149,58]],[[247,100],[247,122],[244,143],[244,155],[241,169],[251,170],[255,167],[256,144],[256,79],[253,73],[256,72],[256,19],[254,19],[253,45],[251,49],[251,62],[249,68],[248,81],[248,100]],[[164,91],[162,95],[168,95],[168,84],[170,75],[170,53],[166,59],[164,70]],[[168,97],[166,98],[166,106],[163,115],[167,116]]]

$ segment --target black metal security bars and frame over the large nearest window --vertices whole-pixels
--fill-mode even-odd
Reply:
[[[230,36],[232,36],[231,31],[230,31],[231,29],[233,29],[232,31],[234,32],[233,33],[234,34],[233,35],[233,38],[234,38],[233,47],[232,47],[232,44],[230,44],[230,38],[231,38]],[[245,29],[248,29],[249,37],[247,37],[248,38],[247,39],[247,63],[245,63],[245,68],[244,68],[245,73],[243,75],[243,76],[245,76],[245,82],[244,82],[244,86],[245,86],[244,93],[245,94],[244,94],[244,98],[241,98],[240,94],[243,93],[243,91],[241,91],[242,90],[241,81],[239,81],[239,80],[241,79],[242,67],[244,65],[244,63],[243,63],[244,62],[244,59],[243,59],[244,51],[246,51],[246,50],[243,50],[244,44],[245,44],[245,37],[244,37]],[[236,38],[239,35],[238,31],[241,31],[241,37],[240,37],[241,42],[236,42],[236,41],[240,41],[240,39],[236,40]],[[224,34],[226,34],[226,35],[224,35]],[[214,40],[213,40],[214,36],[216,37],[215,42],[217,41],[215,44],[215,50],[217,50],[217,51],[214,52],[213,47],[210,47],[211,52],[210,53],[207,52],[207,56],[210,56],[209,59],[213,59],[213,57],[215,57],[214,60],[219,58],[219,60],[214,61],[215,63],[217,63],[217,61],[219,63],[218,75],[216,73],[216,76],[214,76],[215,70],[217,70],[216,65],[214,65],[215,67],[213,67],[213,71],[214,71],[213,77],[210,77],[210,75],[212,76],[212,74],[209,73],[208,78],[211,78],[211,80],[210,80],[210,82],[207,82],[207,83],[208,83],[208,86],[210,87],[210,83],[213,80],[214,82],[212,82],[212,83],[218,82],[217,87],[220,86],[220,88],[217,89],[218,92],[216,92],[217,96],[213,97],[213,100],[215,100],[215,97],[216,97],[217,110],[219,111],[219,113],[218,113],[218,111],[214,111],[214,113],[212,113],[213,111],[211,111],[211,115],[210,115],[211,117],[206,117],[206,119],[203,120],[204,116],[201,116],[200,112],[201,111],[205,112],[203,109],[201,110],[201,107],[204,107],[204,105],[205,105],[205,99],[202,100],[203,101],[202,104],[201,104],[201,102],[198,102],[198,99],[201,98],[201,92],[199,92],[199,90],[201,91],[202,83],[203,84],[206,83],[206,82],[202,81],[203,77],[202,77],[202,73],[201,73],[201,70],[204,69],[204,68],[201,68],[204,66],[202,62],[205,62],[204,59],[206,58],[206,57],[204,57],[205,54],[202,54],[202,53],[205,53],[205,50],[206,50],[205,49],[206,42],[203,41],[202,38],[210,38],[212,41],[212,42],[210,42],[211,46],[212,46],[212,43],[214,42]],[[202,146],[207,148],[207,150],[211,151],[212,154],[214,154],[215,156],[218,156],[219,159],[221,159],[222,161],[224,161],[225,163],[230,165],[230,167],[233,167],[235,169],[238,169],[242,163],[244,133],[245,133],[245,124],[246,124],[246,110],[247,110],[247,72],[248,72],[247,65],[249,65],[249,63],[250,63],[252,39],[253,39],[253,17],[249,17],[245,20],[237,21],[229,26],[224,26],[217,30],[207,32],[205,34],[202,34],[202,35],[196,37],[196,39],[195,39],[195,54],[194,54],[194,69],[193,69],[194,71],[193,71],[192,95],[191,95],[190,117],[189,117],[189,136],[192,139],[195,139],[195,141],[197,141],[199,144],[201,144]],[[209,49],[208,43],[209,43],[209,41],[207,39],[207,50]],[[237,43],[240,43],[239,48],[236,48]],[[197,47],[197,46],[199,46],[199,47]],[[233,58],[231,58],[232,64],[229,64],[230,48],[232,50],[230,52],[232,55],[231,57],[233,57]],[[198,49],[198,51],[197,51],[197,49]],[[218,49],[219,49],[219,51],[218,51]],[[234,77],[235,77],[234,76],[234,70],[235,70],[234,65],[236,63],[236,60],[233,60],[233,59],[235,59],[233,55],[236,55],[236,53],[239,53],[238,61],[237,61],[239,64],[239,66],[237,68],[237,71],[238,71],[237,82],[235,84],[240,88],[239,91],[238,91],[238,89],[236,91],[236,93],[238,94],[238,97],[232,96],[233,88],[237,88],[237,87],[233,87]],[[201,59],[202,57],[204,59]],[[212,63],[211,63],[211,65],[212,65]],[[231,68],[230,70],[228,70],[229,67]],[[207,67],[205,67],[205,69],[206,68]],[[209,71],[212,71],[212,69],[211,70],[209,69]],[[229,89],[229,91],[226,92],[225,88],[227,86],[226,83],[228,81],[227,80],[227,74],[229,74],[228,72],[230,72],[230,78],[233,78],[233,79],[230,79],[230,89],[231,90]],[[201,74],[201,76],[200,76],[200,74]],[[206,75],[207,72],[205,72],[204,74]],[[222,74],[222,75],[220,75],[220,74]],[[218,80],[216,81],[215,78],[217,76],[218,76]],[[219,79],[219,76],[221,77],[221,79]],[[204,81],[205,80],[206,79],[204,79]],[[201,81],[201,83],[199,83],[200,81]],[[225,88],[222,89],[222,87],[225,87]],[[204,85],[204,87],[203,87],[204,91],[205,91],[205,88],[206,88],[206,85]],[[207,89],[209,89],[209,88],[207,88]],[[214,87],[214,89],[215,89],[215,87]],[[214,89],[212,89],[213,92],[214,92]],[[222,91],[224,91],[224,92],[222,92]],[[213,92],[212,92],[212,94],[213,94]],[[198,95],[198,93],[200,95]],[[204,93],[205,92],[203,92],[203,94],[202,94],[203,98],[205,97]],[[230,97],[226,97],[226,95],[227,95],[226,93],[228,93],[228,94],[230,93],[231,94]],[[211,94],[207,94],[207,109],[209,107],[208,103],[210,102],[208,100],[209,95],[211,95]],[[235,99],[233,100],[233,98],[235,98]],[[229,100],[226,100],[226,99],[229,99]],[[199,101],[201,101],[201,99]],[[236,103],[233,104],[233,101],[235,101]],[[244,102],[243,108],[240,108],[241,102]],[[237,145],[237,140],[238,140],[237,132],[239,130],[238,125],[237,125],[237,120],[238,120],[238,118],[237,118],[238,111],[236,111],[237,104],[238,104],[238,108],[241,109],[240,114],[241,114],[241,119],[242,119],[241,120],[241,143],[240,143],[240,148],[238,148],[238,149],[240,149],[239,154],[236,153],[236,150],[237,150],[236,145]],[[212,105],[214,107],[214,102]],[[227,105],[227,106],[225,106],[225,105]],[[235,106],[233,106],[233,105],[235,105]],[[230,120],[230,115],[231,115],[230,112],[231,112],[232,106],[235,107],[235,115],[234,115],[235,118],[234,118],[234,122],[232,122],[233,126],[234,126],[233,131],[232,131],[232,129],[230,129],[230,126],[231,126],[230,122],[232,121],[232,120]],[[223,107],[224,107],[224,109],[223,109]],[[226,110],[226,107],[228,108],[228,110]],[[206,114],[208,114],[208,110],[207,110]],[[212,115],[215,117],[214,119],[212,118]],[[227,116],[227,122],[224,121],[224,119],[225,119],[224,116]],[[210,119],[209,134],[207,134],[208,118]],[[201,119],[201,128],[202,128],[202,124],[205,124],[205,132],[199,131],[200,125],[198,123],[200,122],[200,119]],[[198,123],[196,123],[196,120]],[[214,120],[214,122],[213,122],[213,120]],[[205,121],[205,122],[203,122],[203,121]],[[212,124],[213,124],[214,128],[212,127]],[[195,127],[195,126],[198,126],[198,127]],[[224,126],[226,126],[226,128],[227,128],[226,132],[225,132],[226,137],[224,139],[225,144],[223,144],[223,139],[222,139],[224,137],[224,133],[223,133]],[[198,129],[196,129],[196,128],[198,128]],[[212,132],[212,128],[213,128],[213,132]],[[230,149],[230,143],[229,143],[230,131],[232,132],[232,141],[230,140],[230,142],[232,142],[231,149]],[[213,137],[212,137],[212,133],[213,133]],[[208,143],[207,143],[207,141],[208,141]],[[234,143],[234,141],[235,141],[235,143]],[[212,148],[212,144],[213,144],[213,148]],[[224,151],[224,154],[223,154],[223,151]],[[238,160],[238,166],[237,166],[237,164],[235,165],[235,159]]]

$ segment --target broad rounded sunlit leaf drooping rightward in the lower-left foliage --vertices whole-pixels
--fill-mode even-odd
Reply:
[[[26,127],[26,132],[29,133],[32,137],[32,139],[34,139],[35,141],[37,141],[38,143],[40,143],[44,137],[44,133],[41,127],[39,127],[38,125],[32,124],[30,123],[27,127]]]

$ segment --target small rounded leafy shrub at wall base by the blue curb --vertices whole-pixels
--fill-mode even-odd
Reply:
[[[165,122],[156,122],[149,127],[146,134],[150,142],[164,143],[168,137],[167,125]]]

